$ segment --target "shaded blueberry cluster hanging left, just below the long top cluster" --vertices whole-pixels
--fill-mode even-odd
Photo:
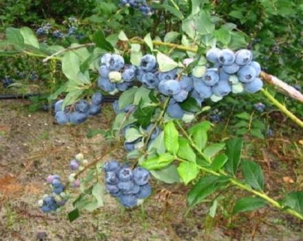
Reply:
[[[79,125],[88,117],[101,113],[102,99],[102,94],[96,92],[92,95],[91,103],[80,100],[76,102],[74,106],[67,106],[65,109],[62,109],[63,100],[56,101],[54,104],[55,121],[59,125],[65,125],[67,123]]]

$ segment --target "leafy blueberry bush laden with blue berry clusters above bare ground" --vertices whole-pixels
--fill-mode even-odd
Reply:
[[[98,1],[90,10],[92,15],[81,20],[69,17],[64,28],[47,22],[34,29],[6,28],[0,56],[20,54],[52,70],[45,75],[54,82],[50,91],[32,101],[52,112],[57,124],[79,125],[101,114],[105,98],[111,98],[116,114],[109,129],[90,133],[103,134],[116,143],[114,147],[101,150],[101,156],[91,161],[77,154],[70,161],[74,172],[66,180],[57,174],[48,176],[52,191],[39,200],[44,213],[59,210],[77,187],[81,194],[68,214],[71,221],[83,209],[105,205],[105,192],[123,207],[134,209],[152,195],[150,181],[155,178],[189,185],[189,209],[213,193],[218,198],[236,187],[247,195],[234,203],[234,215],[271,206],[303,220],[303,192],[293,190],[279,200],[271,198],[261,166],[242,157],[244,134],[261,139],[273,136],[273,129],[260,121],[269,106],[279,109],[297,128],[303,127],[302,105],[297,104],[303,100],[300,86],[290,86],[302,78],[297,71],[302,58],[295,54],[302,48],[302,32],[293,32],[301,38],[299,42],[286,25],[278,28],[273,21],[278,18],[295,25],[301,21],[302,4],[296,11],[295,3],[282,0],[277,6],[267,0],[251,5],[214,2]],[[112,21],[104,28],[101,24],[101,29],[96,23],[105,23],[103,11]],[[264,23],[256,25],[257,19]],[[85,25],[89,25],[86,30]],[[271,39],[279,34],[285,39]],[[285,41],[291,45],[286,52],[282,50]],[[284,65],[293,56],[297,61]],[[283,67],[278,69],[278,64]],[[278,93],[280,89],[273,85],[278,78],[267,72],[289,77],[289,85],[284,83],[286,95]],[[39,74],[31,72],[28,78],[35,81]],[[15,85],[9,76],[2,83],[3,87]],[[244,111],[231,111],[235,105]],[[233,112],[229,136],[214,141],[211,130],[229,111]],[[119,148],[127,151],[125,160],[104,160]]]

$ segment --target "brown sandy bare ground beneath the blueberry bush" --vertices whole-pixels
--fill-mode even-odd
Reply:
[[[29,114],[26,104],[26,101],[0,102],[0,241],[39,240],[39,231],[46,233],[44,240],[52,241],[303,240],[302,222],[275,209],[237,217],[219,211],[218,218],[211,219],[207,217],[209,203],[205,203],[185,216],[185,196],[189,188],[156,181],[153,182],[154,195],[145,202],[144,209],[126,211],[106,196],[105,207],[92,213],[83,212],[72,223],[66,216],[72,210],[70,203],[61,213],[41,213],[36,202],[49,192],[45,177],[54,172],[68,176],[68,163],[79,151],[89,160],[100,156],[101,149],[109,144],[100,135],[86,138],[87,131],[109,127],[114,115],[105,105],[103,115],[90,118],[83,125],[67,127],[54,125],[48,113]],[[283,142],[286,150],[282,148],[279,152],[278,142],[269,140],[267,146],[262,146],[260,157],[264,167],[269,166],[265,168],[267,188],[275,196],[279,196],[276,193],[279,190],[302,187],[303,180],[302,160],[299,169],[294,169],[294,163],[302,156],[291,156],[288,160],[288,146]],[[273,147],[277,147],[276,153]],[[121,150],[109,158],[122,160],[123,156],[125,153]],[[269,160],[273,158],[278,160],[271,163]],[[293,178],[295,184],[290,180],[281,181],[285,176]],[[228,194],[226,200],[234,200],[233,193]]]

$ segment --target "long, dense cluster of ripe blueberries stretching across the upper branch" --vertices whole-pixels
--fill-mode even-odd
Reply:
[[[101,57],[98,86],[109,94],[116,94],[118,90],[127,90],[138,80],[143,86],[158,90],[162,96],[170,96],[167,114],[180,119],[191,114],[180,106],[189,96],[201,106],[207,98],[217,102],[231,92],[255,93],[263,86],[258,77],[260,64],[253,61],[253,54],[249,50],[233,52],[212,48],[207,52],[207,61],[211,63],[209,68],[196,66],[191,74],[185,75],[179,68],[160,72],[156,57],[151,54],[143,56],[138,67],[125,65],[123,57],[118,54],[104,54]],[[115,106],[116,103],[116,112],[127,112],[129,109],[119,110]]]

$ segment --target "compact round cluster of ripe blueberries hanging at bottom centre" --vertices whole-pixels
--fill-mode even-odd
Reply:
[[[136,207],[151,195],[148,182],[150,174],[146,169],[136,167],[132,170],[116,160],[109,160],[105,163],[104,170],[107,192],[118,198],[124,207]]]

